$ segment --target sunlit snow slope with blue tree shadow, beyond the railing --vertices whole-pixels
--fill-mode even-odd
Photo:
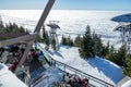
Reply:
[[[108,60],[98,57],[82,59],[76,47],[61,46],[58,52],[49,50],[49,53],[57,61],[114,85],[124,77],[122,69]]]

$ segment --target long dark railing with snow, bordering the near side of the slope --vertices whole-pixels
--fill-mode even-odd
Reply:
[[[48,60],[48,62],[49,62],[51,65],[58,66],[58,67],[60,67],[60,69],[61,69],[62,71],[64,71],[64,72],[71,71],[71,72],[73,72],[74,74],[78,74],[78,75],[81,75],[81,76],[83,76],[83,77],[88,78],[91,86],[95,86],[95,87],[114,87],[114,85],[111,85],[111,84],[109,84],[109,83],[107,83],[107,82],[105,82],[105,80],[102,80],[102,79],[99,79],[99,78],[97,78],[97,77],[94,77],[94,76],[92,76],[92,75],[90,75],[90,74],[86,74],[86,73],[84,73],[84,72],[82,72],[82,71],[80,71],[80,70],[78,70],[78,69],[74,69],[74,67],[72,67],[72,66],[70,66],[70,65],[68,65],[68,64],[64,64],[64,63],[62,63],[62,62],[59,62],[59,61],[52,59],[52,58],[49,55],[49,53],[48,53],[39,44],[37,44],[37,47],[44,52],[46,59]],[[95,84],[95,85],[94,85],[94,84]]]

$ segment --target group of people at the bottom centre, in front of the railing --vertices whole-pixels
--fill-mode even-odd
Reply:
[[[71,75],[67,73],[63,76],[63,87],[90,87],[88,86],[88,79],[87,78],[81,78],[78,75]],[[66,86],[67,85],[67,86]]]

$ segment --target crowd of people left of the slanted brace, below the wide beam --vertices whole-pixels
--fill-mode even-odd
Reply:
[[[23,44],[0,48],[1,62],[5,63],[9,66],[9,70],[13,72],[19,64],[24,50],[25,47]]]

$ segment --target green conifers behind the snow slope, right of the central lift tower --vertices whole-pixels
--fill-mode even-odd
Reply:
[[[70,46],[70,37],[67,39],[62,37],[61,44]],[[88,25],[83,36],[78,35],[73,42],[71,40],[71,46],[79,47],[79,53],[83,59],[93,59],[96,55],[107,59],[121,66],[123,74],[131,77],[131,53],[127,53],[126,46],[122,45],[116,50],[109,41],[107,45],[104,45],[100,36],[95,34],[95,32],[92,33]]]

